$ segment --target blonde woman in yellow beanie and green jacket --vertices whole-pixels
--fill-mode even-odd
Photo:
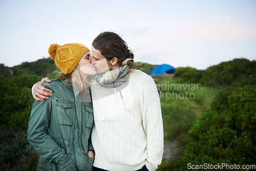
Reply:
[[[88,76],[97,72],[90,50],[81,44],[53,44],[51,58],[62,70],[45,82],[49,100],[35,101],[28,126],[28,141],[39,155],[37,170],[92,170],[93,109]]]

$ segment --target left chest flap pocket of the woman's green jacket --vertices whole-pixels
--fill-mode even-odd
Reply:
[[[72,118],[74,115],[74,103],[68,100],[56,100],[56,113],[59,125],[72,126]]]

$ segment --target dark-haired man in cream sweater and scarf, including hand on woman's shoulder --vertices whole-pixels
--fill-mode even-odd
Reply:
[[[156,170],[163,154],[163,124],[154,80],[136,70],[132,51],[116,33],[100,33],[92,57],[98,72],[91,87],[94,170]],[[44,91],[50,90],[37,84],[34,98],[47,99],[50,93]]]

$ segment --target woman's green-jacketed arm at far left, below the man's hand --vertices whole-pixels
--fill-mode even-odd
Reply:
[[[34,102],[28,126],[28,141],[41,158],[62,164],[68,160],[68,155],[47,132],[51,109],[51,98]]]

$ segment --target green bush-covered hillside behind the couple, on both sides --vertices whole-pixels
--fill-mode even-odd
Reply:
[[[150,74],[156,65],[142,63]],[[27,142],[34,99],[32,85],[59,70],[51,58],[0,64],[0,170],[35,170],[38,155]],[[164,139],[183,150],[158,170],[186,170],[193,164],[255,164],[256,61],[234,59],[206,70],[178,68],[153,76],[161,100]],[[250,170],[250,169],[248,169]],[[252,170],[252,169],[251,169]]]

